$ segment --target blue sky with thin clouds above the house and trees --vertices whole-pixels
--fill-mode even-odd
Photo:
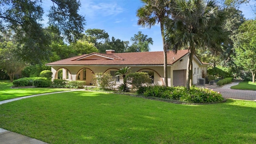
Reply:
[[[43,3],[46,12],[52,2],[46,0]],[[254,4],[256,1],[253,0],[251,5]],[[85,30],[89,28],[102,29],[109,34],[110,39],[114,36],[114,38],[124,41],[130,41],[134,34],[142,31],[154,41],[153,45],[150,45],[150,51],[162,51],[160,26],[156,25],[148,29],[137,25],[136,10],[140,6],[142,6],[140,0],[81,0],[79,13],[85,15]],[[246,19],[255,19],[256,15],[248,4],[240,6],[240,10]]]

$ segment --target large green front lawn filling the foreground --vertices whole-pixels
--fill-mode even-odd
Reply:
[[[0,106],[0,128],[50,144],[255,144],[256,103],[182,105],[75,91]]]

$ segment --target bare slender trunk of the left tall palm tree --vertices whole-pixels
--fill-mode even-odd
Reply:
[[[161,35],[163,40],[163,47],[164,47],[164,86],[168,86],[168,71],[167,71],[167,48],[165,44],[165,38],[164,38],[164,24],[160,22],[160,28],[161,28]]]

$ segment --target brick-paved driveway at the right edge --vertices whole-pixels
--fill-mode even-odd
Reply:
[[[239,82],[232,82],[226,84],[221,88],[213,88],[214,91],[220,92],[224,98],[232,98],[239,100],[253,100],[256,101],[256,91],[254,90],[233,90],[231,86],[237,85]]]

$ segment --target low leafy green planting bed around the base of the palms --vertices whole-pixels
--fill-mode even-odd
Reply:
[[[138,88],[137,93],[145,97],[167,98],[192,103],[220,102],[223,100],[222,95],[218,92],[194,86],[190,87],[190,90],[184,86],[142,86]]]

